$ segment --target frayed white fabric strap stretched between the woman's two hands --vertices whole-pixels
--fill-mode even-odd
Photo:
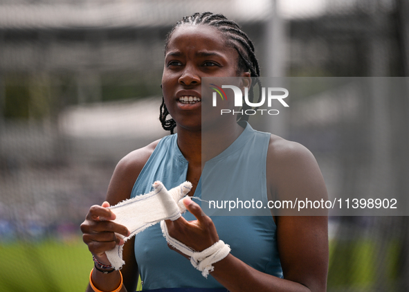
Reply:
[[[148,194],[141,194],[111,206],[109,209],[116,215],[113,222],[128,228],[131,235],[123,237],[116,233],[117,237],[127,241],[137,233],[145,230],[162,220],[172,221],[181,217],[186,211],[182,199],[192,189],[192,183],[185,181],[176,188],[167,191],[161,181],[155,181],[154,190]],[[105,252],[108,260],[116,270],[119,270],[125,262],[122,259],[122,246],[116,246]]]

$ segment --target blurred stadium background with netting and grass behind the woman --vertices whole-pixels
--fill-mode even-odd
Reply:
[[[409,73],[408,0],[0,0],[0,291],[84,291],[80,223],[118,160],[167,134],[165,34],[197,11],[237,21],[262,76]],[[409,194],[408,94],[350,101],[291,100],[269,127],[311,149],[330,195]],[[409,291],[408,217],[329,230],[328,291]]]

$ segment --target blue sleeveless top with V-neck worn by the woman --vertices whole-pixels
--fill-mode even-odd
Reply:
[[[247,122],[242,124],[242,127],[245,129],[235,142],[206,162],[194,197],[201,197],[202,188],[206,188],[206,194],[220,194],[221,185],[226,185],[226,192],[231,198],[237,197],[237,194],[251,194],[251,199],[260,200],[266,206],[266,155],[270,134],[255,131]],[[167,190],[186,180],[188,161],[177,145],[176,135],[166,136],[158,143],[136,179],[131,197],[150,192],[152,183],[157,180],[162,181]],[[240,167],[237,167],[237,161]],[[234,175],[225,175],[232,172]],[[206,179],[203,178],[205,174]],[[219,182],[205,185],[204,181],[209,179]],[[201,205],[200,201],[197,203]],[[203,202],[203,206],[205,204],[207,203]],[[232,214],[234,215],[234,212]],[[188,221],[195,220],[190,212],[186,212],[183,217]],[[230,245],[232,255],[258,271],[282,277],[276,241],[277,226],[271,215],[210,218],[215,223],[219,238]],[[170,250],[159,224],[136,235],[135,257],[143,281],[143,290],[223,287],[211,273],[206,279],[188,259]]]

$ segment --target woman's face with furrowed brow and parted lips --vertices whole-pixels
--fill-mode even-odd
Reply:
[[[201,77],[237,76],[238,57],[216,28],[184,24],[174,30],[165,51],[162,89],[179,127],[201,129]]]

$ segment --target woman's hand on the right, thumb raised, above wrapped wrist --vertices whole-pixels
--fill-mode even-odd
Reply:
[[[183,199],[183,204],[197,220],[187,221],[183,217],[175,221],[166,220],[169,235],[195,251],[205,250],[219,241],[215,224],[213,224],[210,217],[203,213],[200,206],[194,203],[189,197]],[[169,244],[168,246],[188,258],[187,255],[181,253],[176,248],[172,248]]]

